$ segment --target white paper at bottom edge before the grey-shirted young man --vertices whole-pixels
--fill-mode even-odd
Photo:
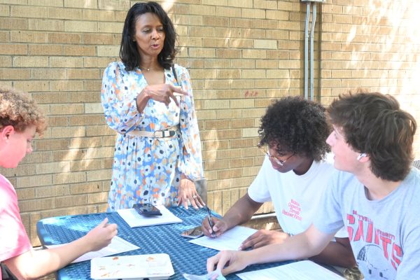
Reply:
[[[317,265],[310,260],[302,260],[300,262],[292,262],[288,265],[272,267],[267,269],[255,270],[252,272],[238,273],[240,279],[243,280],[343,280],[342,276],[331,272],[321,265]]]

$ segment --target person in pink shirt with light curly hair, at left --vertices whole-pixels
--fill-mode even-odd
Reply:
[[[43,113],[27,94],[0,86],[0,167],[18,167],[32,152],[35,134],[44,130]],[[67,245],[34,251],[20,218],[15,188],[0,174],[0,232],[0,262],[18,279],[37,279],[110,244],[117,225],[104,219],[87,235]]]

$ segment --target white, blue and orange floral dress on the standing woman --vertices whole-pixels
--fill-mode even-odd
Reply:
[[[143,112],[136,97],[147,85],[140,69],[126,71],[123,62],[112,62],[104,71],[101,101],[106,123],[118,132],[113,158],[108,210],[131,208],[134,203],[176,205],[181,173],[202,179],[202,154],[193,91],[187,69],[175,64],[176,76],[188,96],[166,106],[150,99]],[[177,85],[172,69],[165,83]],[[155,132],[178,126],[174,137],[134,137],[132,130]]]

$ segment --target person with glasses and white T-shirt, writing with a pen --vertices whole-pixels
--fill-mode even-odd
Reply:
[[[282,243],[311,225],[318,213],[333,167],[325,161],[330,127],[323,106],[301,97],[286,97],[269,106],[261,119],[260,144],[265,159],[248,193],[241,197],[214,227],[204,219],[202,230],[211,237],[251,219],[264,202],[272,201],[283,232],[258,230],[240,249]],[[313,260],[353,267],[347,232],[342,230]]]

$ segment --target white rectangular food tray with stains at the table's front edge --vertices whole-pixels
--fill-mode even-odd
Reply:
[[[93,258],[90,261],[90,277],[97,280],[159,280],[168,279],[174,273],[171,259],[165,253]]]

